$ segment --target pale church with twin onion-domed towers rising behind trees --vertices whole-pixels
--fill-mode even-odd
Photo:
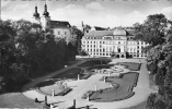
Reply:
[[[70,36],[70,24],[66,21],[51,21],[49,12],[47,11],[47,4],[44,5],[43,16],[39,16],[37,7],[35,7],[35,13],[33,14],[33,23],[38,23],[43,26],[43,29],[53,28],[56,37]]]

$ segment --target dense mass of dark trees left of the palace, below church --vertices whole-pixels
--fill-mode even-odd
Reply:
[[[0,90],[64,68],[76,58],[78,39],[56,38],[24,20],[0,21]]]

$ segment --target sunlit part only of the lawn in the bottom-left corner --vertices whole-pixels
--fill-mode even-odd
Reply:
[[[21,93],[8,93],[0,95],[0,108],[43,108]]]

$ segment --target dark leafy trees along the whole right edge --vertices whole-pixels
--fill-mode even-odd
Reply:
[[[169,25],[169,26],[168,26]],[[151,94],[147,109],[172,109],[172,21],[163,14],[149,15],[144,24],[135,24],[136,39],[150,44],[147,66],[158,86]]]

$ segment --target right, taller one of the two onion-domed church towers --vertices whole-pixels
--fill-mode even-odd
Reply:
[[[43,13],[42,21],[41,21],[44,29],[48,26],[49,21],[50,21],[50,16],[49,16],[49,13],[47,12],[47,4],[45,3],[44,13]]]

